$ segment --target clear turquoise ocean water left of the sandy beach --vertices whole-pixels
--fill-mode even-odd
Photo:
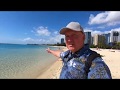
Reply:
[[[0,44],[0,79],[36,78],[58,58],[46,45]],[[58,49],[57,47],[50,47]]]

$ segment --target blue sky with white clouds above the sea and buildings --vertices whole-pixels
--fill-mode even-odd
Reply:
[[[60,43],[60,29],[71,21],[92,36],[120,31],[120,11],[0,11],[0,43]]]

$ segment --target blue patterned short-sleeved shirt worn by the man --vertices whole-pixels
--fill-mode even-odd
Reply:
[[[88,46],[72,54],[71,51],[62,52],[60,57],[63,60],[63,67],[60,79],[112,79],[109,67],[101,57],[92,61],[88,74],[86,74],[85,62],[91,50]]]

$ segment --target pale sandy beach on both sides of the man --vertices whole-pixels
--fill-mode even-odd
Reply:
[[[66,51],[67,48],[64,47],[63,51]],[[103,60],[110,68],[112,79],[120,79],[120,50],[110,50],[110,49],[92,49],[97,51],[103,57]],[[62,68],[62,61],[59,58],[56,60],[53,65],[45,70],[37,79],[59,79],[60,71]]]

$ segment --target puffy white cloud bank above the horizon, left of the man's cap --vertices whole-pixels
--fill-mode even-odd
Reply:
[[[56,44],[56,43],[60,43],[61,38],[64,38],[64,35],[60,35],[58,31],[51,30],[50,32],[47,29],[47,27],[40,26],[38,28],[33,28],[33,29],[34,30],[31,30],[31,32],[40,37],[37,37],[37,39],[27,37],[25,39],[22,39],[24,43]]]

